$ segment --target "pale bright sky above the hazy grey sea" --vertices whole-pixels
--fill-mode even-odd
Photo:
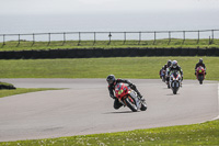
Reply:
[[[219,0],[0,0],[0,14],[215,11]]]

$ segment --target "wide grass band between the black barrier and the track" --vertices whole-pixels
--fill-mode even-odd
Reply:
[[[168,59],[176,59],[184,79],[195,79],[200,57],[117,57],[0,60],[0,78],[117,78],[158,79]],[[219,80],[219,57],[203,57],[208,80]]]

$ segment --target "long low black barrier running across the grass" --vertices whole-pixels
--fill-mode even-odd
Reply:
[[[219,56],[219,48],[77,48],[0,52],[0,59],[92,58],[136,56]]]

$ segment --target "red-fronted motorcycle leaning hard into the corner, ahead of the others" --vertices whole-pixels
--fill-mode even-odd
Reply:
[[[115,94],[118,101],[124,106],[127,105],[132,112],[147,110],[146,101],[141,100],[137,92],[125,83],[117,83],[115,86]]]

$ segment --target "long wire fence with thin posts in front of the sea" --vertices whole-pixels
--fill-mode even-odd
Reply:
[[[184,44],[186,40],[195,40],[198,44],[203,38],[208,40],[208,44],[212,44],[219,38],[219,30],[0,34],[2,47],[9,42],[15,42],[15,46],[22,42],[28,42],[31,46],[37,42],[45,42],[45,45],[49,46],[51,42],[60,42],[59,45],[65,45],[69,41],[74,41],[76,45],[80,45],[83,41],[92,42],[93,45],[99,41],[104,41],[107,45],[111,45],[113,41],[123,42],[124,45],[128,41],[136,41],[139,45],[143,41],[152,41],[152,44],[155,44],[158,40],[166,40],[170,44],[173,40],[181,40]]]

